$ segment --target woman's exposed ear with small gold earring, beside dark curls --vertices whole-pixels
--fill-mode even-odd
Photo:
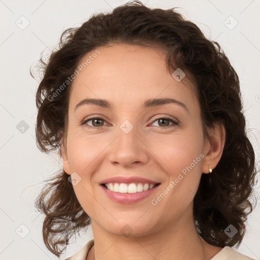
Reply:
[[[209,167],[213,170],[221,156],[225,145],[225,127],[221,123],[215,124],[214,128],[209,129],[209,138],[205,140],[202,163],[202,173],[209,173]]]

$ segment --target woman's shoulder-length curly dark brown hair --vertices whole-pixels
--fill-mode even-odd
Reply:
[[[43,78],[37,89],[37,146],[42,152],[59,150],[67,135],[68,101],[75,72],[82,57],[110,43],[127,43],[167,50],[167,71],[188,71],[198,85],[204,134],[215,123],[224,124],[226,141],[212,174],[203,174],[194,197],[193,217],[198,233],[209,244],[234,246],[245,235],[249,199],[256,182],[255,156],[247,138],[239,77],[219,44],[206,39],[200,28],[183,18],[176,8],[151,9],[139,1],[94,14],[80,27],[63,31],[58,50],[48,62],[42,57]],[[48,250],[60,256],[90,217],[79,204],[64,170],[46,181],[35,206],[45,216],[43,238]],[[250,197],[250,198],[249,198]],[[238,233],[229,238],[224,230],[233,224]],[[60,246],[63,248],[60,249]]]

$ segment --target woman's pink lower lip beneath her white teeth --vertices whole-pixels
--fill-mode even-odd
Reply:
[[[136,192],[136,193],[119,193],[119,192],[111,191],[110,189],[107,189],[103,185],[101,185],[101,187],[103,188],[103,190],[106,192],[107,196],[111,200],[117,203],[124,203],[124,204],[134,204],[142,201],[143,199],[150,196],[159,186],[160,184],[156,185],[151,189]]]

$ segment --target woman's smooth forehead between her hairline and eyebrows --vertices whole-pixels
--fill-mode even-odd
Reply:
[[[76,105],[83,98],[100,98],[133,105],[133,100],[166,96],[196,103],[195,86],[188,79],[192,75],[186,74],[177,82],[166,69],[164,50],[128,44],[98,50],[98,55],[93,55],[98,53],[93,50],[79,62],[83,68],[73,82],[70,104]]]

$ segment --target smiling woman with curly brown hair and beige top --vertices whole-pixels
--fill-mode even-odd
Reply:
[[[56,256],[91,223],[68,260],[251,259],[231,248],[256,175],[239,78],[194,23],[135,2],[64,31],[37,108],[63,161],[36,201]]]

